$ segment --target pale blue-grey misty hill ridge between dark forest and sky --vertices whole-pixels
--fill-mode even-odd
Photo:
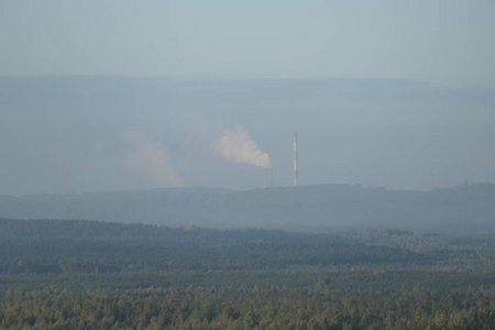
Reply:
[[[473,233],[495,231],[495,184],[429,191],[318,185],[0,196],[0,217],[306,232],[373,228]]]

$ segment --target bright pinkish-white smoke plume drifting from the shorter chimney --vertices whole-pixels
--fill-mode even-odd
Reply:
[[[261,151],[249,132],[240,127],[223,130],[208,148],[213,155],[234,164],[250,164],[271,168],[268,154]]]

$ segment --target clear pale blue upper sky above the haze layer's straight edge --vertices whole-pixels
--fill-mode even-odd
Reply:
[[[495,1],[0,2],[0,76],[395,77],[495,86]]]

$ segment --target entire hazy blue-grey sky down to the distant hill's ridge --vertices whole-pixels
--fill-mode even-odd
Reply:
[[[270,166],[288,186],[295,131],[305,185],[495,182],[494,18],[494,0],[0,1],[0,194],[249,189]]]

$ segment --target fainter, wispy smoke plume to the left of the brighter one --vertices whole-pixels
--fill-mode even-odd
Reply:
[[[124,139],[132,146],[125,168],[139,175],[148,187],[179,186],[179,176],[163,143],[132,129],[125,130]]]

